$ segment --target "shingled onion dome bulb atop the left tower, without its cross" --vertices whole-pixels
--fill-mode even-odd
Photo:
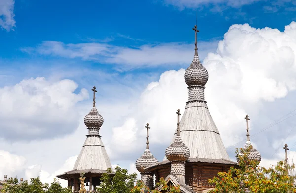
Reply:
[[[100,128],[103,125],[104,119],[93,106],[90,112],[84,117],[84,124],[87,128]]]

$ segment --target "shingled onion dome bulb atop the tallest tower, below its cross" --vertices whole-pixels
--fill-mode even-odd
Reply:
[[[198,55],[194,56],[191,65],[186,69],[184,79],[188,86],[206,85],[209,74],[207,69],[201,64]]]

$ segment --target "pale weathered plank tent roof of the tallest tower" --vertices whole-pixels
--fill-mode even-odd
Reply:
[[[180,137],[190,150],[190,158],[230,160],[205,101],[186,104],[180,121]],[[163,160],[167,160],[166,157]]]

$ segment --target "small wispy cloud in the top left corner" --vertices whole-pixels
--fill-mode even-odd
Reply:
[[[9,31],[15,27],[14,0],[0,0],[0,26]]]

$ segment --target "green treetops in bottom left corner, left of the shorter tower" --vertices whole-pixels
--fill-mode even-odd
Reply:
[[[19,182],[16,177],[9,178],[4,184],[2,190],[4,193],[72,193],[71,188],[63,188],[57,179],[49,186],[47,183],[42,183],[40,178],[31,178],[29,181],[25,180]]]

